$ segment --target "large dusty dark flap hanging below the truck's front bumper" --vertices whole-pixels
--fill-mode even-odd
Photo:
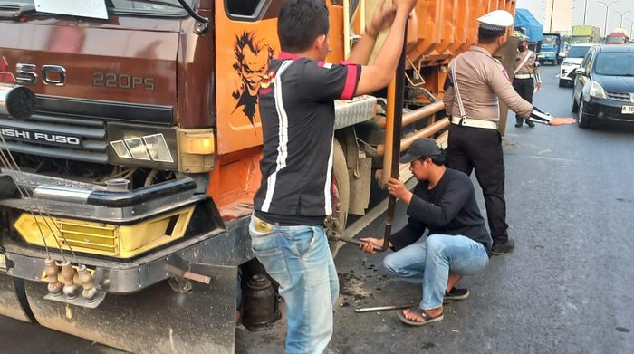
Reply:
[[[44,327],[110,347],[134,353],[234,353],[237,267],[192,264],[191,270],[211,282],[181,279],[128,295],[110,293],[96,309],[45,300],[43,282],[26,282],[26,296]]]

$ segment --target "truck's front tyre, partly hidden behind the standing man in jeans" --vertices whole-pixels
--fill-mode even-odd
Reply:
[[[334,231],[344,234],[346,229],[346,221],[348,220],[348,208],[350,206],[350,180],[348,177],[348,166],[346,165],[346,156],[343,148],[337,139],[334,140],[332,146],[332,178],[334,180],[333,193],[333,216],[337,218],[338,223]],[[331,242],[332,257],[337,255],[343,244],[342,241]]]

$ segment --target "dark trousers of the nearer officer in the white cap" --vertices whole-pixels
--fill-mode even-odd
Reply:
[[[504,199],[504,154],[497,129],[449,127],[447,167],[476,178],[485,196],[486,219],[495,243],[508,240]]]

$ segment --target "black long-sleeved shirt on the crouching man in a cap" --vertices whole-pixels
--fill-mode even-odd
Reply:
[[[413,244],[429,229],[429,234],[463,235],[485,245],[491,255],[493,241],[477,206],[471,179],[447,168],[436,187],[418,182],[408,206],[408,225],[391,237],[396,251]]]

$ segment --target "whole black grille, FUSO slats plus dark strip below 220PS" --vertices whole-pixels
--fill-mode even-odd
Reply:
[[[0,115],[0,133],[5,137],[5,144],[0,140],[0,148],[46,158],[107,164],[106,121],[165,128],[174,121],[172,106],[36,96],[36,111],[28,120]],[[64,137],[73,143],[57,140]]]

